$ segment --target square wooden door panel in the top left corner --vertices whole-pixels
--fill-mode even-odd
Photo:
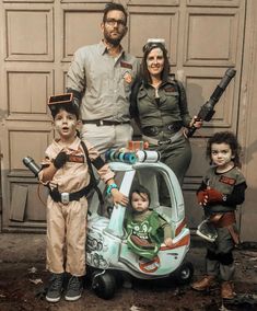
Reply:
[[[19,5],[5,9],[7,61],[52,61],[52,9]]]

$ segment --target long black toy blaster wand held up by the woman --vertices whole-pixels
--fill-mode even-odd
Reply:
[[[214,92],[211,94],[209,101],[206,102],[205,105],[201,106],[198,115],[197,120],[206,120],[210,122],[212,116],[214,115],[214,105],[219,102],[221,95],[225,91],[226,87],[229,85],[232,78],[235,76],[236,70],[229,68],[225,71],[224,77],[221,79],[220,83],[217,85]],[[192,125],[187,133],[187,137],[191,137],[196,131],[196,127]]]

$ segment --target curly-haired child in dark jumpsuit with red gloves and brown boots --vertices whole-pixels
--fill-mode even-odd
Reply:
[[[191,287],[203,291],[221,280],[221,297],[233,299],[233,274],[235,270],[232,251],[238,244],[235,229],[235,210],[245,199],[247,187],[240,163],[240,145],[231,131],[217,133],[207,143],[207,158],[211,168],[197,192],[198,203],[206,218],[214,226],[218,237],[207,242],[206,276]]]

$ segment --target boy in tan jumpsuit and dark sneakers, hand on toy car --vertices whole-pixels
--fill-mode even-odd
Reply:
[[[60,96],[61,97],[61,96]],[[62,96],[63,99],[63,96]],[[52,100],[52,101],[51,101]],[[59,135],[46,150],[39,180],[49,188],[47,199],[47,269],[52,274],[46,300],[60,300],[65,272],[70,274],[66,300],[74,301],[82,293],[82,276],[85,275],[86,193],[90,185],[89,163],[77,128],[79,110],[72,95],[68,102],[51,96],[49,108],[54,126]],[[108,185],[114,203],[127,205],[128,198],[117,188],[114,173],[98,152],[89,143],[89,158],[100,177]],[[66,256],[63,250],[66,246]]]

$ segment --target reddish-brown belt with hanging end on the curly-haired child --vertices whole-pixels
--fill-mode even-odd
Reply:
[[[240,244],[240,234],[233,226],[236,223],[234,211],[211,215],[209,220],[217,228],[227,228],[235,244]]]

